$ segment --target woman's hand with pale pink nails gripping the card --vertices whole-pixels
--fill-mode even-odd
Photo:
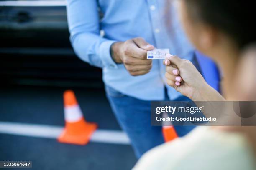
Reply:
[[[224,100],[217,91],[207,84],[189,60],[182,60],[177,56],[167,54],[164,65],[166,65],[167,84],[182,95],[191,100]]]

